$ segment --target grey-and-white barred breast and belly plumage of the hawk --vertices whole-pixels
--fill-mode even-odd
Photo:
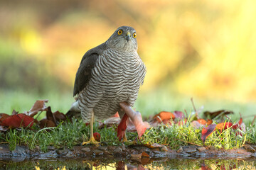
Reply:
[[[133,106],[145,73],[146,67],[136,51],[105,50],[92,69],[89,83],[78,95],[82,119],[88,122],[92,110],[99,120],[109,118],[120,112],[122,101]]]

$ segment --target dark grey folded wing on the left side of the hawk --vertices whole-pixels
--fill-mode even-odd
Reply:
[[[99,55],[106,49],[106,43],[103,43],[87,51],[82,57],[78,72],[75,74],[75,85],[73,96],[79,94],[85,88],[91,78],[92,69],[95,67]]]

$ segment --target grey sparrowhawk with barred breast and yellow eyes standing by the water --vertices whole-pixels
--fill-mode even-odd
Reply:
[[[83,145],[97,144],[93,137],[94,119],[110,118],[117,111],[122,118],[121,102],[134,106],[146,74],[137,53],[136,37],[134,28],[119,27],[106,42],[82,57],[73,91],[73,96],[78,97],[69,112],[80,112],[85,123],[90,121],[90,140]]]

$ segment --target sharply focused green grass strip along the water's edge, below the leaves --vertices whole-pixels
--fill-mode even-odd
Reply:
[[[48,151],[48,146],[55,148],[72,148],[75,145],[80,145],[82,141],[89,140],[90,126],[82,123],[82,120],[73,119],[73,123],[60,123],[55,128],[44,128],[39,130],[33,127],[34,130],[9,130],[6,133],[0,133],[0,143],[8,142],[9,148],[14,150],[16,145],[26,145],[30,149],[40,147],[43,152]],[[203,146],[201,140],[202,128],[195,129],[190,123],[186,125],[173,125],[167,127],[166,125],[157,128],[150,128],[146,130],[138,144],[154,144],[167,145],[171,149],[178,149],[184,145],[198,145]],[[224,149],[238,149],[245,141],[256,144],[256,127],[248,126],[247,132],[242,132],[242,137],[237,135],[231,128],[223,130],[222,133],[216,131],[210,135],[205,145],[213,146],[215,148]],[[122,145],[117,140],[117,132],[112,128],[97,128],[95,123],[94,132],[99,132],[101,135],[102,145]],[[136,132],[127,132],[127,139],[129,141],[135,140]]]

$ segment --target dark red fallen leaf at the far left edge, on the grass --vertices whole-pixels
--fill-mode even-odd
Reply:
[[[2,120],[1,125],[9,126],[11,128],[26,128],[31,127],[34,123],[34,119],[23,113],[17,115],[11,115],[8,118]]]

